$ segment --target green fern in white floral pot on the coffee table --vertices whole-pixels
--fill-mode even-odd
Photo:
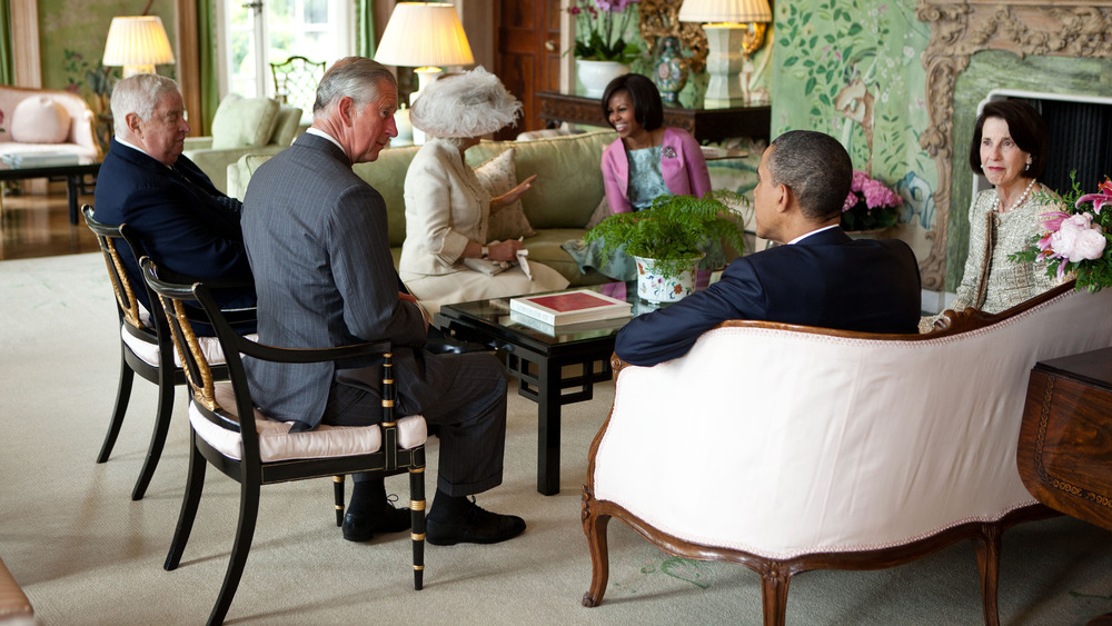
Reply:
[[[695,270],[711,241],[745,249],[739,209],[744,196],[728,190],[694,196],[661,196],[653,206],[613,215],[592,228],[584,240],[602,241],[602,255],[623,246],[637,261],[637,294],[653,302],[669,302],[691,294]],[[732,208],[732,207],[737,207]]]

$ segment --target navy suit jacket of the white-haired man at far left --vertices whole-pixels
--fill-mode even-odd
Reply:
[[[250,284],[238,201],[212,187],[186,157],[178,157],[173,167],[177,171],[112,139],[97,175],[97,221],[130,225],[160,268],[202,281]],[[131,280],[142,285],[131,250],[123,242],[119,249]],[[147,294],[137,291],[149,310]],[[255,292],[247,287],[227,290],[218,300],[249,307],[255,305]]]

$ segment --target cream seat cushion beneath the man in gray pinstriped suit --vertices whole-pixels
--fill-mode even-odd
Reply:
[[[238,418],[230,381],[215,385],[216,401],[229,416]],[[321,424],[306,433],[290,433],[292,421],[278,421],[255,409],[259,434],[259,458],[264,463],[308,458],[347,457],[376,453],[383,446],[383,431],[373,426],[328,426]],[[189,403],[189,424],[197,435],[228,458],[240,460],[244,443],[238,434],[220,428]],[[425,443],[425,418],[410,415],[398,420],[398,446],[411,449]]]

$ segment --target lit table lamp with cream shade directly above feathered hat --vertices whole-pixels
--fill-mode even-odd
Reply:
[[[386,22],[375,60],[386,66],[417,68],[417,91],[436,80],[441,66],[475,62],[456,7],[447,2],[398,2]]]

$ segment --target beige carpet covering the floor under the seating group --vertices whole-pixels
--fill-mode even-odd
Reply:
[[[162,463],[143,500],[133,503],[129,494],[150,435],[152,385],[137,380],[111,460],[93,463],[119,371],[99,255],[0,262],[0,557],[47,624],[203,623],[227,566],[238,489],[208,473],[182,564],[165,572],[186,469],[180,388]],[[604,385],[595,400],[565,408],[563,489],[554,497],[535,490],[536,406],[510,396],[505,483],[479,503],[524,516],[529,529],[497,546],[428,546],[421,592],[411,587],[405,535],[366,545],[340,537],[329,480],[265,488],[229,623],[759,624],[755,574],[669,557],[618,521],[610,524],[603,605],[580,606],[590,559],[579,487],[612,393]],[[435,467],[435,440],[430,447]],[[685,459],[677,454],[661,463]],[[405,484],[395,477],[387,485],[405,499]],[[1009,531],[1002,623],[1084,624],[1112,612],[1110,539],[1069,518]],[[787,616],[790,624],[982,623],[972,548],[959,544],[880,572],[797,576]]]

